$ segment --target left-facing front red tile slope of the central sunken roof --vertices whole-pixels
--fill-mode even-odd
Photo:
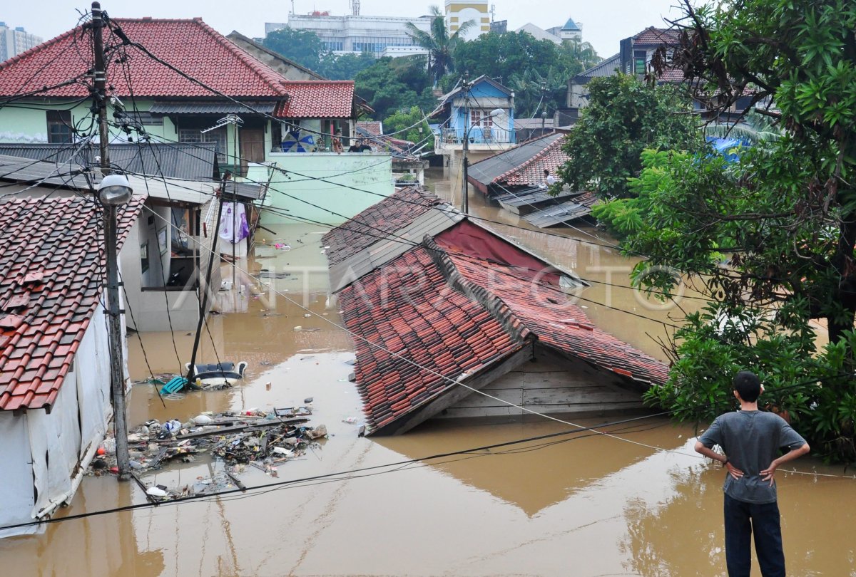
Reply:
[[[355,374],[373,432],[458,386],[449,379],[479,373],[528,342],[529,332],[507,307],[491,314],[450,286],[424,247],[366,275],[339,298],[345,326],[361,337],[354,339]]]

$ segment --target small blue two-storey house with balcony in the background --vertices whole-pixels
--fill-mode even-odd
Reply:
[[[469,88],[458,86],[439,98],[442,120],[435,133],[434,151],[445,156],[444,174],[460,165],[464,139],[469,140],[470,162],[477,162],[517,144],[514,133],[514,91],[479,76]]]

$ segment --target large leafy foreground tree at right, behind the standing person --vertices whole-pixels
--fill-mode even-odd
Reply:
[[[655,270],[693,275],[711,300],[677,335],[669,383],[650,398],[681,419],[709,417],[729,406],[734,368],[757,368],[765,397],[812,447],[854,461],[856,4],[685,9],[680,45],[661,51],[655,67],[681,68],[714,108],[750,97],[749,108],[776,118],[784,134],[739,162],[670,156],[650,167],[658,178],[643,175],[650,202],[627,250],[648,255]],[[639,269],[637,280],[669,291],[675,276]],[[819,354],[813,319],[829,336]]]

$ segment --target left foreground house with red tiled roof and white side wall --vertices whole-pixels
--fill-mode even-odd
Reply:
[[[119,209],[120,246],[142,203]],[[0,210],[0,526],[68,503],[112,415],[101,219],[80,197]]]

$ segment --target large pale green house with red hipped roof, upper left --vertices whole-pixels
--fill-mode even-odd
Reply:
[[[221,173],[273,183],[270,220],[288,210],[329,221],[324,209],[336,209],[338,223],[394,191],[389,153],[330,151],[336,131],[353,135],[366,110],[352,80],[283,75],[198,18],[112,18],[110,26],[111,142],[211,143]],[[21,104],[0,109],[0,143],[71,148],[96,136],[85,81],[92,62],[75,48],[89,34],[77,27],[0,63],[0,98]]]

